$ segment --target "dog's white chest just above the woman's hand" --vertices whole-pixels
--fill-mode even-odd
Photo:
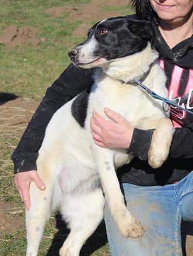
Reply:
[[[124,116],[134,126],[138,126],[138,120],[149,116],[150,102],[147,96],[135,85],[121,84],[119,81],[109,79],[96,81],[90,93],[89,108],[104,115],[104,107]]]

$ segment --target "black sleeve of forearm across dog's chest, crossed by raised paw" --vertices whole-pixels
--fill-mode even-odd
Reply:
[[[151,137],[154,130],[134,129],[127,153],[141,160],[148,159]],[[188,159],[193,157],[193,123],[187,127],[177,128],[174,132],[169,158]]]

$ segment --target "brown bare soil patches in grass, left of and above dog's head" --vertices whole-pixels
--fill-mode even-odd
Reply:
[[[83,23],[73,32],[74,36],[78,37],[87,33],[87,30],[90,28],[90,21],[100,21],[101,19],[121,15],[118,11],[103,11],[104,7],[124,7],[127,4],[128,0],[93,0],[90,4],[78,5],[78,7],[52,7],[45,10],[45,12],[53,17],[60,16],[67,11],[69,13],[69,21],[75,22],[77,20],[81,20]],[[22,45],[31,45],[31,47],[36,47],[42,40],[37,37],[36,33],[37,30],[29,26],[16,27],[16,25],[10,25],[2,31],[2,34],[0,35],[0,42],[8,47],[21,47]]]

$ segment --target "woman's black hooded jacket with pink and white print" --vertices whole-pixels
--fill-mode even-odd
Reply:
[[[176,99],[180,105],[183,103],[184,107],[193,107],[193,92],[190,93],[191,88],[193,88],[191,80],[193,79],[193,38],[180,42],[171,50],[159,30],[157,28],[156,30],[158,33],[156,48],[159,50],[168,76],[168,90],[171,84],[174,84],[171,74],[175,73],[176,67],[181,67],[182,72],[178,88],[180,94],[176,94],[172,98]],[[11,156],[15,173],[36,169],[38,151],[42,145],[49,120],[63,104],[92,85],[92,75],[93,69],[85,71],[69,65],[59,79],[55,80],[52,86],[48,88],[19,145]],[[191,85],[189,86],[189,84]],[[187,85],[189,87],[188,93]],[[182,119],[182,116],[179,116],[175,109],[171,113],[174,122],[179,123],[182,128],[177,128],[174,133],[168,160],[161,168],[152,169],[147,163],[152,130],[134,129],[128,153],[135,157],[129,165],[125,165],[119,170],[121,182],[138,185],[163,185],[182,179],[193,169],[193,115],[185,114]]]

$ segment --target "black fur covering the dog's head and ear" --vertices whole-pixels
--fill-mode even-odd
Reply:
[[[101,35],[101,30],[106,30],[107,33]],[[111,59],[139,53],[147,47],[148,42],[151,43],[153,48],[156,40],[156,30],[148,21],[137,21],[125,17],[109,18],[90,28],[86,41],[77,47],[84,45],[93,36],[97,44],[92,57],[105,56],[110,61]],[[81,64],[78,61],[78,56],[77,53],[72,61]]]

